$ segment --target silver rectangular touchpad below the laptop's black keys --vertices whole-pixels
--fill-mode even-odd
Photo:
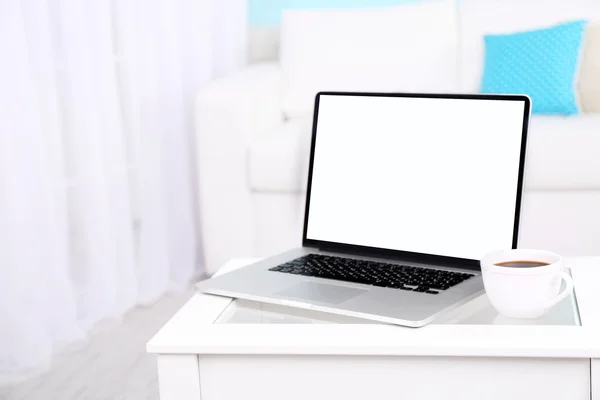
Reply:
[[[277,294],[299,300],[339,304],[366,291],[346,286],[328,285],[326,283],[302,282]]]

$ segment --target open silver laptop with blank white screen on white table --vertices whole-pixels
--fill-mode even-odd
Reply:
[[[517,246],[529,110],[520,95],[318,93],[302,247],[197,289],[434,321],[483,293],[485,253]]]

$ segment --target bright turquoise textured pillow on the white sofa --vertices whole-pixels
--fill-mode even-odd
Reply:
[[[532,114],[578,114],[575,87],[586,24],[486,35],[481,92],[526,94]]]

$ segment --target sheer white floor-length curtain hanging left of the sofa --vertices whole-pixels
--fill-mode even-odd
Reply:
[[[0,1],[0,384],[201,272],[197,89],[242,0]]]

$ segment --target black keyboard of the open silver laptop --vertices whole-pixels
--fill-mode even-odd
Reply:
[[[433,268],[308,254],[269,271],[362,283],[386,288],[438,294],[475,276]]]

